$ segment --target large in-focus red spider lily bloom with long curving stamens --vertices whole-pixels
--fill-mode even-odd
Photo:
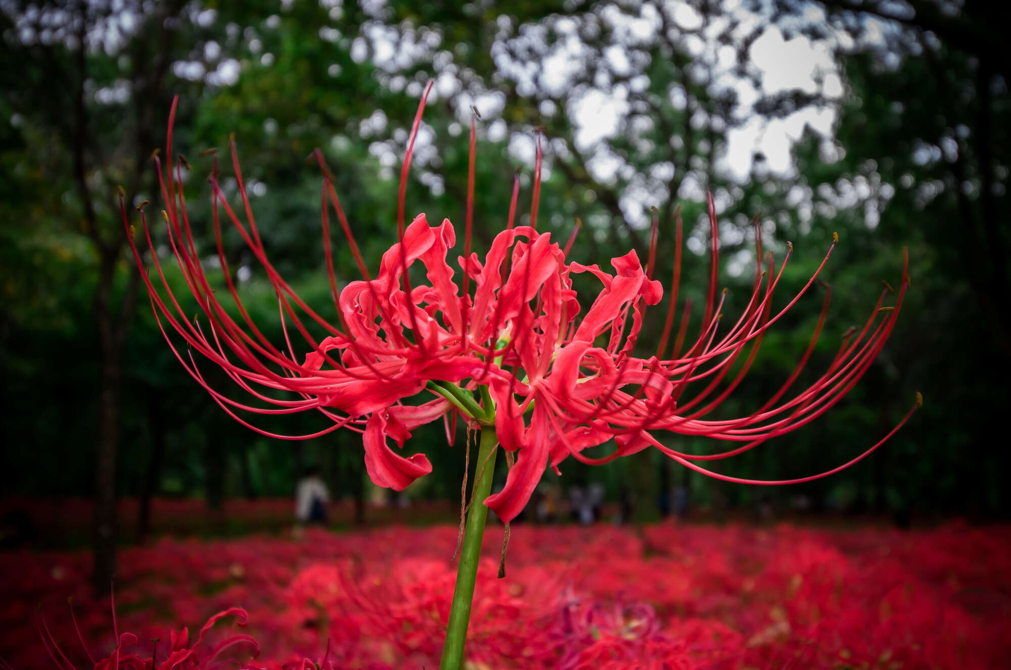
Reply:
[[[217,182],[217,159],[210,182],[212,222],[218,259],[240,318],[235,319],[221,306],[204,274],[186,212],[182,167],[172,164],[173,103],[169,120],[168,151],[163,166],[158,160],[163,212],[168,237],[176,263],[187,287],[196,298],[210,324],[210,336],[195,322],[191,323],[169,289],[157,254],[152,262],[157,279],[143,273],[159,326],[167,322],[197,353],[220,366],[243,390],[272,408],[246,405],[210,388],[200,372],[196,359],[182,356],[169,339],[170,346],[187,371],[204,387],[213,400],[233,417],[258,432],[282,439],[316,437],[340,427],[363,433],[365,463],[372,481],[379,486],[402,490],[417,478],[431,472],[424,454],[402,457],[393,451],[387,438],[397,446],[409,437],[410,430],[436,419],[444,419],[448,430],[457,414],[482,425],[492,425],[501,446],[519,450],[504,489],[489,496],[486,503],[499,517],[513,519],[529,500],[548,465],[557,472],[558,465],[572,456],[587,464],[607,463],[617,456],[635,453],[647,446],[660,449],[669,457],[697,472],[730,482],[746,484],[790,484],[808,482],[831,475],[868,455],[901,427],[919,406],[884,439],[849,463],[818,475],[784,481],[756,481],[728,477],[698,465],[701,460],[726,458],[742,453],[772,437],[813,421],[835,405],[863,375],[885,345],[898,319],[903,297],[909,284],[904,257],[902,281],[893,307],[883,308],[887,288],[863,327],[848,333],[828,368],[807,389],[788,396],[810,357],[821,333],[831,291],[827,291],[821,318],[796,369],[783,387],[761,407],[736,419],[712,419],[708,416],[741,383],[747,373],[767,329],[778,321],[818,280],[822,268],[838,243],[834,241],[814,275],[793,296],[787,305],[773,310],[773,295],[793,252],[776,268],[769,254],[767,268],[761,249],[761,235],[755,224],[755,258],[758,270],[747,307],[737,322],[723,328],[723,294],[718,296],[717,219],[712,195],[709,196],[711,225],[711,268],[708,298],[699,334],[686,343],[691,302],[685,301],[683,316],[674,336],[673,347],[667,343],[673,332],[674,307],[680,278],[681,222],[676,220],[674,269],[668,288],[670,299],[664,318],[663,334],[657,350],[647,357],[634,351],[648,308],[657,305],[663,287],[653,279],[657,247],[657,220],[654,216],[649,259],[644,268],[635,251],[614,258],[613,272],[598,265],[582,265],[567,259],[570,239],[565,248],[550,233],[537,230],[542,152],[537,143],[536,170],[530,225],[514,227],[519,194],[519,175],[515,177],[513,198],[504,230],[491,243],[483,262],[471,252],[473,210],[473,173],[475,162],[475,123],[471,120],[470,170],[468,180],[467,227],[464,255],[458,257],[462,268],[461,286],[447,262],[456,242],[453,226],[444,221],[429,226],[420,215],[404,227],[404,192],[411,150],[421,123],[426,89],[415,117],[400,173],[397,242],[383,254],[375,278],[370,275],[352,234],[334,179],[316,150],[313,156],[323,173],[321,219],[323,243],[331,294],[339,324],[326,321],[306,305],[284,281],[267,258],[246,192],[235,142],[231,142],[242,212],[228,203]],[[357,261],[362,279],[339,289],[333,261],[330,216],[336,212],[342,231]],[[221,249],[220,213],[240,233],[262,264],[278,296],[278,309],[284,327],[286,350],[278,349],[250,318],[239,300]],[[145,237],[150,248],[152,238],[144,219]],[[126,223],[125,210],[123,221]],[[136,262],[143,266],[141,251],[132,246]],[[428,283],[412,285],[410,267],[420,262]],[[572,275],[588,272],[601,282],[600,291],[589,302],[585,315],[572,287]],[[165,296],[156,287],[160,280]],[[473,281],[473,291],[470,282]],[[301,316],[299,316],[301,315]],[[288,335],[287,322],[304,338],[307,353],[299,356]],[[329,333],[321,341],[314,339],[307,322],[314,322]],[[748,349],[738,371],[728,380],[735,363]],[[691,398],[682,398],[690,384],[707,382]],[[724,383],[726,384],[724,385]],[[721,385],[722,391],[717,391]],[[295,394],[297,398],[279,400],[274,392]],[[474,397],[480,392],[480,401]],[[404,404],[419,398],[421,404]],[[278,435],[241,418],[236,410],[259,414],[289,414],[316,411],[330,426],[306,435]],[[529,420],[526,418],[529,415]],[[739,442],[734,448],[713,454],[676,451],[656,439],[652,431],[667,430],[686,435],[708,436]],[[582,453],[587,447],[615,439],[617,448],[606,457],[591,458]]]

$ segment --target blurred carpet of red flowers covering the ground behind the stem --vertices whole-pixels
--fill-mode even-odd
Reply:
[[[1011,658],[1011,527],[517,525],[500,580],[499,541],[489,528],[467,645],[475,670],[960,670],[1006,668]],[[179,669],[299,667],[304,658],[438,667],[455,543],[456,528],[439,526],[125,550],[120,665],[153,651],[156,668],[186,657],[170,657],[174,648],[193,650]],[[0,657],[19,670],[54,667],[44,634],[59,665],[92,667],[68,596],[90,655],[112,652],[109,602],[89,595],[88,568],[85,553],[0,554]],[[243,607],[248,625],[236,627],[241,613],[225,616],[198,641],[208,617],[229,607]]]

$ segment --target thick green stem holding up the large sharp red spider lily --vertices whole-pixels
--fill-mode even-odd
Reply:
[[[493,425],[485,426],[481,429],[481,445],[477,452],[478,473],[474,476],[473,500],[467,513],[466,534],[463,536],[460,565],[456,571],[456,588],[453,589],[453,604],[449,610],[449,625],[446,626],[446,644],[439,664],[440,670],[460,670],[463,667],[463,648],[467,643],[467,623],[470,621],[470,605],[474,599],[474,582],[477,581],[477,562],[481,558],[481,538],[484,536],[484,521],[488,515],[484,499],[491,492],[491,476],[495,472],[497,450],[495,428]]]

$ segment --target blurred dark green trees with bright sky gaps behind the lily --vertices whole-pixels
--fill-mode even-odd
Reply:
[[[1003,409],[1011,354],[1011,60],[1002,23],[982,3],[4,0],[0,9],[0,425],[2,465],[16,473],[6,488],[94,494],[107,561],[117,495],[202,493],[211,506],[222,495],[287,495],[309,462],[363,495],[355,434],[280,443],[236,424],[180,368],[137,290],[116,191],[123,187],[135,224],[132,206],[150,200],[157,248],[161,198],[150,157],[164,146],[172,97],[207,263],[216,262],[204,183],[213,159],[198,155],[218,149],[223,188],[235,196],[234,133],[268,253],[307,302],[328,305],[319,174],[304,159],[323,150],[374,266],[395,236],[397,170],[429,79],[407,216],[463,223],[473,105],[478,250],[503,226],[518,165],[521,203],[529,203],[538,134],[542,226],[567,238],[581,220],[576,259],[606,263],[628,247],[644,254],[653,206],[660,248],[669,249],[680,205],[681,301],[700,305],[706,290],[707,190],[718,204],[731,313],[754,275],[752,217],[766,249],[782,255],[795,244],[790,286],[810,276],[837,231],[814,370],[865,318],[879,282],[898,281],[908,246],[912,289],[864,381],[816,424],[723,472],[783,478],[842,463],[885,434],[919,390],[924,411],[872,457],[821,484],[761,494],[880,510],[1008,510],[1000,473],[1009,457],[987,424]],[[780,48],[771,64],[759,58],[770,40]],[[789,56],[798,46],[823,53],[827,65],[812,66],[809,84],[771,85],[777,68],[798,67]],[[790,123],[801,130],[784,131]],[[782,155],[766,156],[757,140],[742,153],[741,138],[770,131],[782,136]],[[265,333],[281,338],[270,284],[234,233],[223,246],[244,302]],[[355,278],[350,252],[337,249],[339,278]],[[661,253],[658,276],[669,276],[672,262]],[[778,388],[822,298],[806,297],[766,337],[721,411],[747,413]],[[659,338],[666,302],[660,307],[644,329],[647,344]],[[228,388],[223,374],[206,372]],[[312,421],[272,426],[296,432]],[[444,439],[441,429],[420,430],[408,442],[434,464],[415,495],[457,490],[459,450]],[[755,495],[659,464],[649,453],[592,473],[574,464],[565,481],[603,478],[613,496],[630,488],[647,502],[671,477],[703,502]]]

